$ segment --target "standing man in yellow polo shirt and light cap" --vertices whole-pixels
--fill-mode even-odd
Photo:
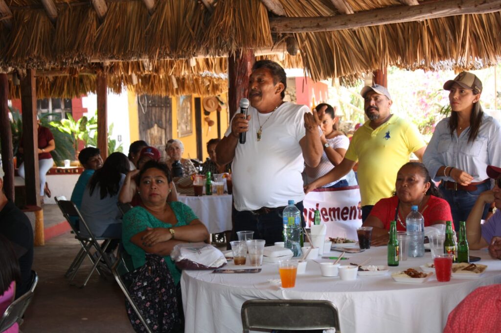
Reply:
[[[353,134],[341,163],[306,185],[305,192],[341,178],[358,161],[362,220],[365,220],[379,199],[392,195],[398,169],[409,161],[411,152],[421,160],[426,144],[416,126],[390,113],[392,100],[386,87],[366,85],[360,94],[369,120]]]

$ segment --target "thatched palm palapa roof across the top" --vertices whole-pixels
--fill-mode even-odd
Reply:
[[[99,73],[117,92],[217,94],[240,48],[347,81],[501,56],[501,0],[0,0],[0,17],[0,71],[36,68],[39,96],[95,91]]]

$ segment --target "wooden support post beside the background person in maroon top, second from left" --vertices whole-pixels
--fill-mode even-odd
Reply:
[[[38,169],[37,90],[35,69],[28,69],[21,79],[23,109],[23,156],[25,165],[26,204],[40,206],[40,175]],[[42,193],[43,194],[43,193]]]

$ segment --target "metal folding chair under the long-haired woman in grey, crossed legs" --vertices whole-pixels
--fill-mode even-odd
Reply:
[[[91,229],[89,228],[89,225],[85,221],[85,219],[82,217],[82,214],[78,210],[77,206],[75,203],[73,203],[70,200],[62,200],[61,197],[56,197],[56,203],[58,204],[59,208],[63,212],[64,217],[70,223],[70,226],[73,229],[73,232],[75,233],[75,238],[78,239],[80,242],[80,245],[82,248],[78,252],[77,256],[73,260],[72,264],[70,265],[70,268],[66,271],[65,276],[70,277],[70,282],[73,281],[75,278],[75,275],[77,274],[78,269],[80,268],[80,265],[82,264],[82,261],[84,260],[85,256],[91,260],[93,266],[89,274],[87,275],[87,278],[85,279],[84,283],[80,287],[84,287],[87,282],[89,281],[92,273],[97,270],[97,272],[100,275],[103,275],[103,272],[100,271],[100,268],[98,266],[99,261],[103,260],[103,262],[106,264],[106,266],[110,269],[111,271],[111,266],[112,263],[110,262],[109,258],[107,255],[104,255],[106,248],[110,244],[110,242],[114,238],[109,238],[109,237],[95,237],[94,233],[92,233]],[[73,224],[73,220],[75,218],[78,218],[80,228],[85,228],[87,230],[87,233],[89,236],[84,236],[81,234],[80,230],[77,230],[75,225]],[[98,243],[98,240],[103,240],[102,245]],[[92,250],[94,248],[94,251]],[[93,256],[95,253],[96,257]]]

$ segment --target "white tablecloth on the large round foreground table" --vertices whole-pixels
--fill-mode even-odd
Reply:
[[[338,255],[332,252],[331,255]],[[308,261],[306,273],[298,275],[294,288],[283,289],[268,279],[279,279],[276,264],[264,264],[260,273],[214,274],[211,271],[183,271],[181,290],[186,332],[241,332],[240,309],[247,299],[327,299],[337,306],[343,332],[441,332],[449,312],[475,288],[501,283],[501,260],[486,250],[470,251],[488,265],[478,279],[452,277],[438,282],[435,275],[420,284],[395,282],[392,271],[419,267],[431,262],[431,254],[409,258],[391,267],[383,276],[358,276],[355,281],[323,277],[319,264]],[[324,254],[325,255],[325,254]],[[386,265],[386,246],[348,254],[347,261]],[[319,262],[327,259],[317,259]],[[235,267],[231,261],[225,267]],[[245,266],[238,266],[245,267]]]

